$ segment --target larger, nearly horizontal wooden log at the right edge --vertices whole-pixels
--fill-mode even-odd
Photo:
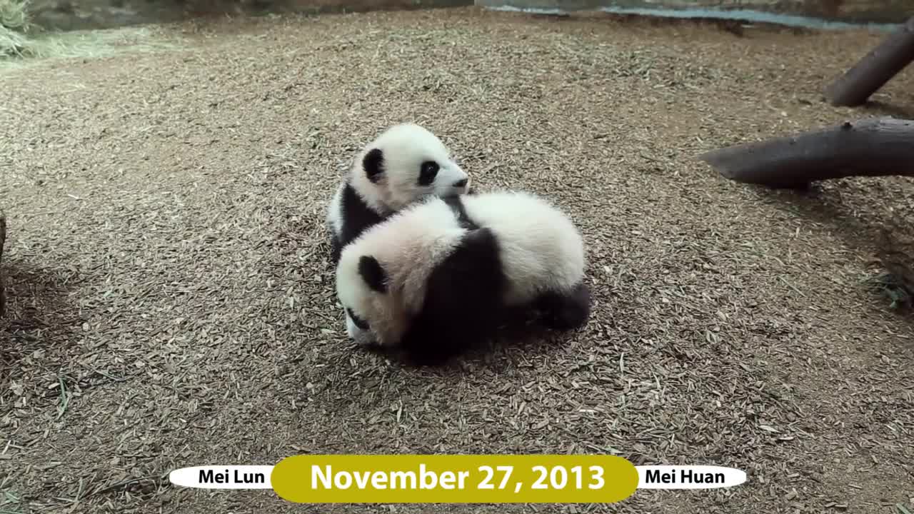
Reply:
[[[769,187],[805,187],[844,177],[914,177],[914,121],[845,122],[813,132],[698,155],[724,177]]]

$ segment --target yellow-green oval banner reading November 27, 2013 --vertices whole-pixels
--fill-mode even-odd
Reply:
[[[612,503],[638,470],[615,455],[293,455],[270,480],[296,503]]]

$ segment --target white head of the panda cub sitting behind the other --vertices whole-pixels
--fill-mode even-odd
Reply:
[[[470,177],[435,134],[415,123],[394,125],[356,157],[352,185],[378,212],[430,196],[466,193]]]

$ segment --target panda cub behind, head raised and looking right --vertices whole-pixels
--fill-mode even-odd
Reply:
[[[356,156],[327,209],[331,261],[363,230],[420,198],[466,193],[470,177],[429,130],[415,123],[389,127]]]

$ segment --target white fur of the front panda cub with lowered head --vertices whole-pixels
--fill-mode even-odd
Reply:
[[[506,305],[523,305],[545,290],[570,292],[583,279],[586,262],[579,230],[546,200],[503,191],[463,196],[462,202],[469,218],[492,230],[498,241],[509,283]],[[359,330],[347,315],[350,336],[363,344],[372,335],[382,346],[395,344],[422,306],[430,273],[465,232],[441,198],[428,198],[353,241],[337,268],[337,295],[342,305],[368,321],[372,334]],[[363,255],[375,257],[388,274],[388,294],[377,294],[362,280],[358,261]]]

